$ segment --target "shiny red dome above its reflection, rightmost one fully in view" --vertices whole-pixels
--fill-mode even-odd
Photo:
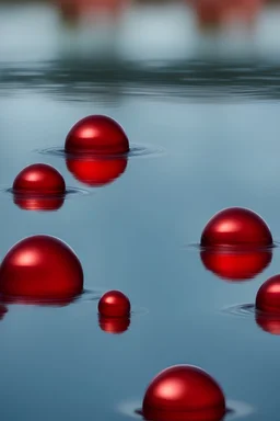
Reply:
[[[202,247],[271,247],[272,237],[265,220],[255,212],[230,207],[215,214],[201,235]]]

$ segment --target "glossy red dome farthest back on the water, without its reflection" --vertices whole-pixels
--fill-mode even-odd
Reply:
[[[126,153],[129,143],[122,127],[106,115],[90,115],[69,132],[65,145],[70,153]]]

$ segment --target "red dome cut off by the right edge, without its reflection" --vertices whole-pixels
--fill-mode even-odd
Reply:
[[[256,308],[280,315],[280,275],[270,277],[260,286],[256,296]]]

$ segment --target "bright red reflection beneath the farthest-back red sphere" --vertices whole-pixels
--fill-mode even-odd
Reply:
[[[83,184],[102,186],[120,177],[127,168],[127,159],[74,159],[66,161],[68,170]]]

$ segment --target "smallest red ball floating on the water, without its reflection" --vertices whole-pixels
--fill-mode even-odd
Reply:
[[[128,317],[130,301],[120,291],[108,291],[100,299],[98,311],[106,317]]]

